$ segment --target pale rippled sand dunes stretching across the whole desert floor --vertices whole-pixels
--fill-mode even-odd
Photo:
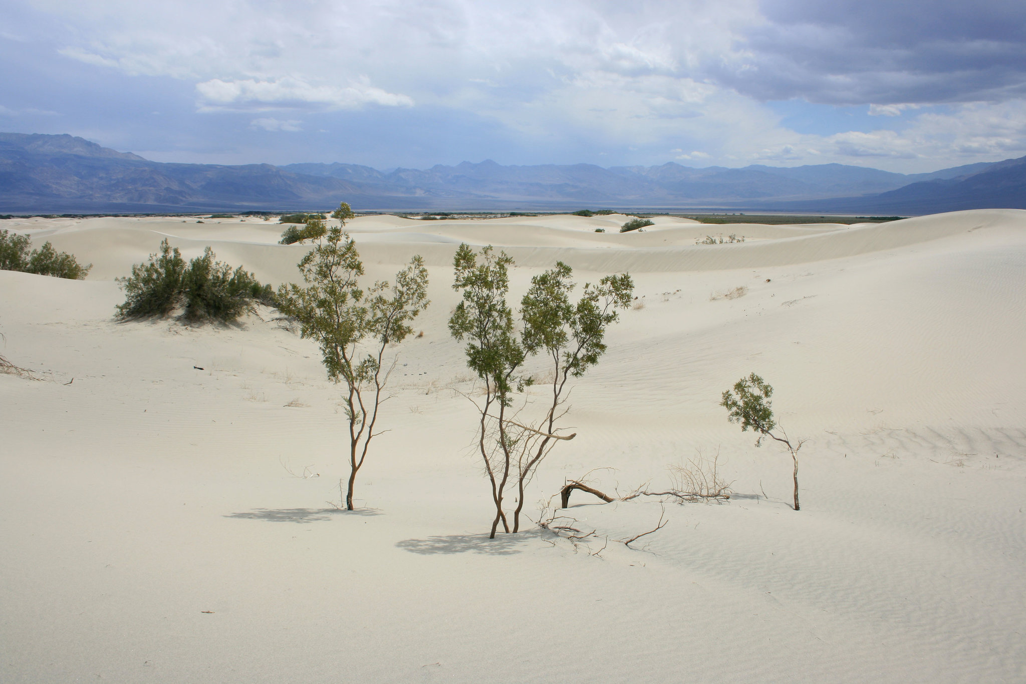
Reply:
[[[268,311],[238,328],[111,318],[112,278],[165,236],[293,279],[306,248],[274,244],[280,227],[4,222],[94,267],[0,272],[2,353],[39,378],[0,375],[0,680],[1026,680],[1026,212],[626,235],[599,218],[353,222],[368,277],[423,253],[434,301],[398,350],[356,514],[325,504],[344,426],[307,340]],[[695,245],[710,228],[748,241]],[[579,494],[591,551],[609,539],[597,557],[540,531],[484,538],[453,392],[472,383],[445,328],[464,240],[506,247],[517,296],[556,258],[637,283],[530,501],[593,468],[617,469],[600,488],[664,486],[717,449],[737,495],[667,505],[639,550],[616,539],[658,502]],[[799,513],[787,456],[717,406],[753,370],[811,438]]]

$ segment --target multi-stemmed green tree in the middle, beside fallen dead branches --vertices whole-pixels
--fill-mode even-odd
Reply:
[[[574,305],[569,298],[574,290],[570,268],[557,263],[554,269],[531,279],[521,300],[523,328],[518,338],[513,311],[506,301],[513,259],[505,253],[497,256],[491,246],[482,248],[480,263],[477,256],[466,244],[457,251],[452,287],[463,290],[463,300],[449,319],[449,330],[457,339],[468,339],[467,365],[484,381],[484,399],[477,405],[478,448],[496,506],[494,538],[500,522],[504,531],[511,531],[503,506],[510,480],[517,488],[512,527],[516,532],[524,487],[558,440],[575,436],[556,434],[556,423],[565,414],[561,406],[567,380],[580,377],[598,362],[605,351],[605,329],[617,320],[618,308],[630,306],[633,283],[627,274],[606,276],[597,286],[586,284],[581,300]],[[527,357],[539,353],[552,363],[551,400],[543,418],[521,423],[512,411],[512,394],[514,389],[522,392],[534,384],[520,369]]]

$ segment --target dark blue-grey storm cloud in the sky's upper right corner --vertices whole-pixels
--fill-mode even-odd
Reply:
[[[763,0],[741,66],[711,70],[760,99],[999,102],[1026,94],[1026,2]]]

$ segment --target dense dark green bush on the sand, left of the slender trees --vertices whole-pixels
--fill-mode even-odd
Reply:
[[[150,254],[147,264],[132,267],[131,276],[117,280],[125,291],[124,304],[117,306],[123,319],[166,316],[184,307],[186,320],[231,323],[251,300],[276,304],[270,285],[262,285],[242,267],[218,261],[210,247],[187,266],[166,239],[159,254]]]

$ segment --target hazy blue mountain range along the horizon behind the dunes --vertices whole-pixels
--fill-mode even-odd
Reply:
[[[935,213],[1026,208],[1026,157],[933,173],[821,164],[690,168],[479,164],[169,164],[71,135],[0,133],[0,212],[733,209]]]

